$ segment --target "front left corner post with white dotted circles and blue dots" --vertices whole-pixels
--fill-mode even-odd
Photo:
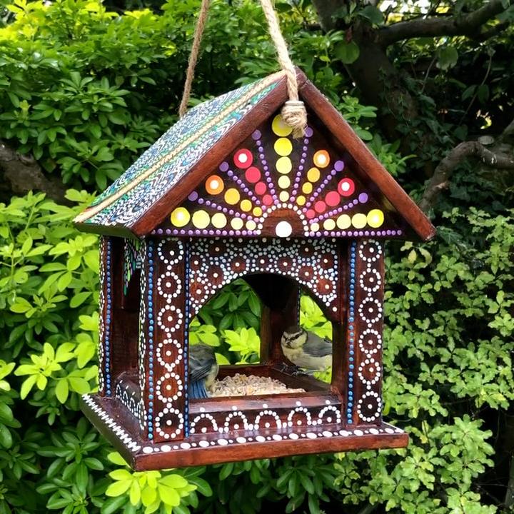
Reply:
[[[153,443],[187,434],[186,247],[146,239],[141,266],[139,383],[144,435]]]

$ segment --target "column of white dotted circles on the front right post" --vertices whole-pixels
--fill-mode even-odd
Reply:
[[[354,247],[355,248],[355,247]],[[355,252],[355,251],[354,251]],[[358,361],[353,373],[358,381],[358,417],[364,423],[381,421],[382,330],[381,293],[383,247],[378,241],[361,241],[356,247],[356,333]]]

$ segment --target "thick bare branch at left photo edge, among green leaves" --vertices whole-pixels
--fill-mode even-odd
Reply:
[[[14,194],[42,191],[56,201],[66,202],[66,188],[59,178],[47,178],[39,163],[31,156],[17,153],[0,140],[0,197],[9,201]]]

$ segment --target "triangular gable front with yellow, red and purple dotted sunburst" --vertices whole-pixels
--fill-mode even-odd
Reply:
[[[209,174],[156,233],[187,236],[399,236],[356,173],[309,126],[280,114]]]

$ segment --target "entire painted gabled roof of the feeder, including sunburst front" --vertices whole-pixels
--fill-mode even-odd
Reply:
[[[207,101],[148,148],[75,222],[120,236],[405,236],[428,218],[299,72],[306,137],[294,140],[273,74]]]

